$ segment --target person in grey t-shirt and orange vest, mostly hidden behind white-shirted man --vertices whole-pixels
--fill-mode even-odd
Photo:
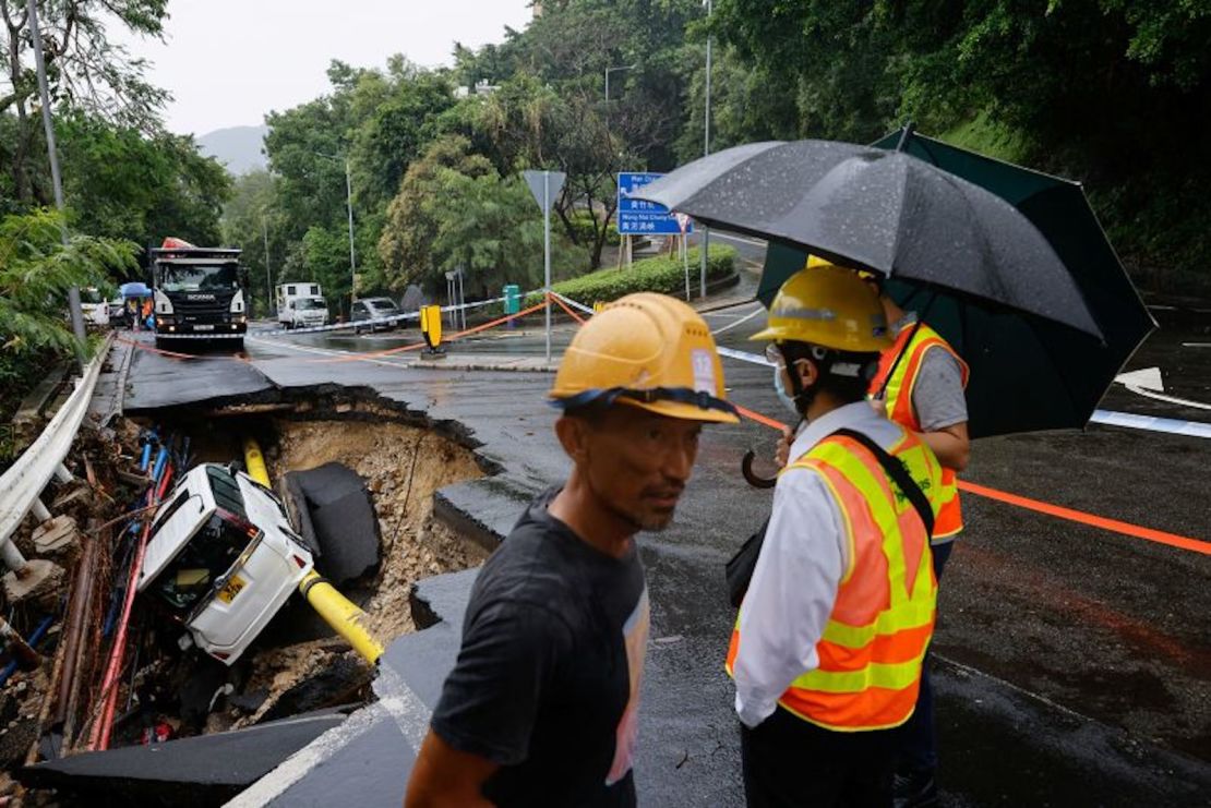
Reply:
[[[872,403],[888,417],[912,429],[929,444],[942,464],[942,510],[934,527],[934,576],[941,582],[954,538],[963,530],[955,473],[968,466],[968,405],[964,388],[968,365],[937,331],[905,311],[883,290],[879,301],[891,325],[895,342],[883,352],[879,371],[871,382]],[[920,698],[913,717],[901,728],[896,750],[896,808],[937,804],[937,743],[934,721],[934,688],[929,659],[922,675]]]

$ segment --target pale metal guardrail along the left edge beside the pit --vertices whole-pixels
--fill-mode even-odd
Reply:
[[[45,507],[38,497],[52,477],[62,479],[65,473],[63,458],[71,449],[71,441],[88,411],[97,376],[101,375],[101,367],[111,344],[113,335],[105,339],[97,356],[85,365],[84,375],[75,380],[75,391],[42,433],[0,477],[0,556],[10,569],[18,570],[25,564],[10,539],[30,508],[45,514]]]

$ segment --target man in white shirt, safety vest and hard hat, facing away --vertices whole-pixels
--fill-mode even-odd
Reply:
[[[934,627],[941,468],[866,402],[891,340],[856,273],[799,271],[753,339],[770,342],[779,396],[807,427],[774,489],[728,650],[748,806],[890,806],[895,729],[913,712]],[[896,460],[916,500],[885,471]]]

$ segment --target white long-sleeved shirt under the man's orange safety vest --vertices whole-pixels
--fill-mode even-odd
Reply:
[[[886,450],[903,434],[866,402],[846,404],[808,423],[791,461],[840,428],[861,432]],[[740,607],[740,647],[733,663],[736,714],[756,727],[791,682],[820,664],[816,643],[851,564],[840,507],[820,474],[782,472],[761,556]]]

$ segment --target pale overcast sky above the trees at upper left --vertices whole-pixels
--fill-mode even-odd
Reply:
[[[199,135],[327,92],[332,59],[449,64],[455,41],[500,42],[505,25],[532,17],[529,0],[171,0],[168,13],[165,42],[115,39],[153,62],[151,82],[176,98],[168,128]]]

